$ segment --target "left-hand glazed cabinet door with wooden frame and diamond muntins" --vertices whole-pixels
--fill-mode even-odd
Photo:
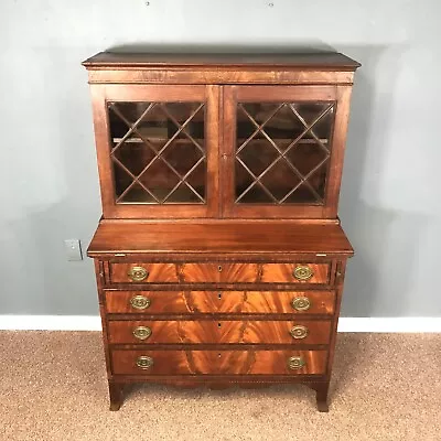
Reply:
[[[203,217],[216,206],[216,93],[206,86],[105,86],[106,217]],[[99,119],[98,119],[99,120]],[[211,173],[208,173],[208,169]]]

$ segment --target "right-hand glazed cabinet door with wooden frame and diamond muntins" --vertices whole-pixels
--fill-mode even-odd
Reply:
[[[325,217],[335,88],[232,86],[224,97],[225,215]]]

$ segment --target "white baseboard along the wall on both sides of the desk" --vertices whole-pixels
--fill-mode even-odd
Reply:
[[[96,315],[0,315],[0,330],[100,331]],[[341,318],[338,332],[441,332],[441,318]]]

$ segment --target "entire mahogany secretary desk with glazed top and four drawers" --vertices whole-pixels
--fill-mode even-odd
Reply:
[[[99,53],[95,260],[110,409],[133,381],[302,383],[327,411],[353,60]]]

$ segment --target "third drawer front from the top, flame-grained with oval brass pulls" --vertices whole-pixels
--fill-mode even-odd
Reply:
[[[110,321],[111,344],[327,344],[331,321]]]

